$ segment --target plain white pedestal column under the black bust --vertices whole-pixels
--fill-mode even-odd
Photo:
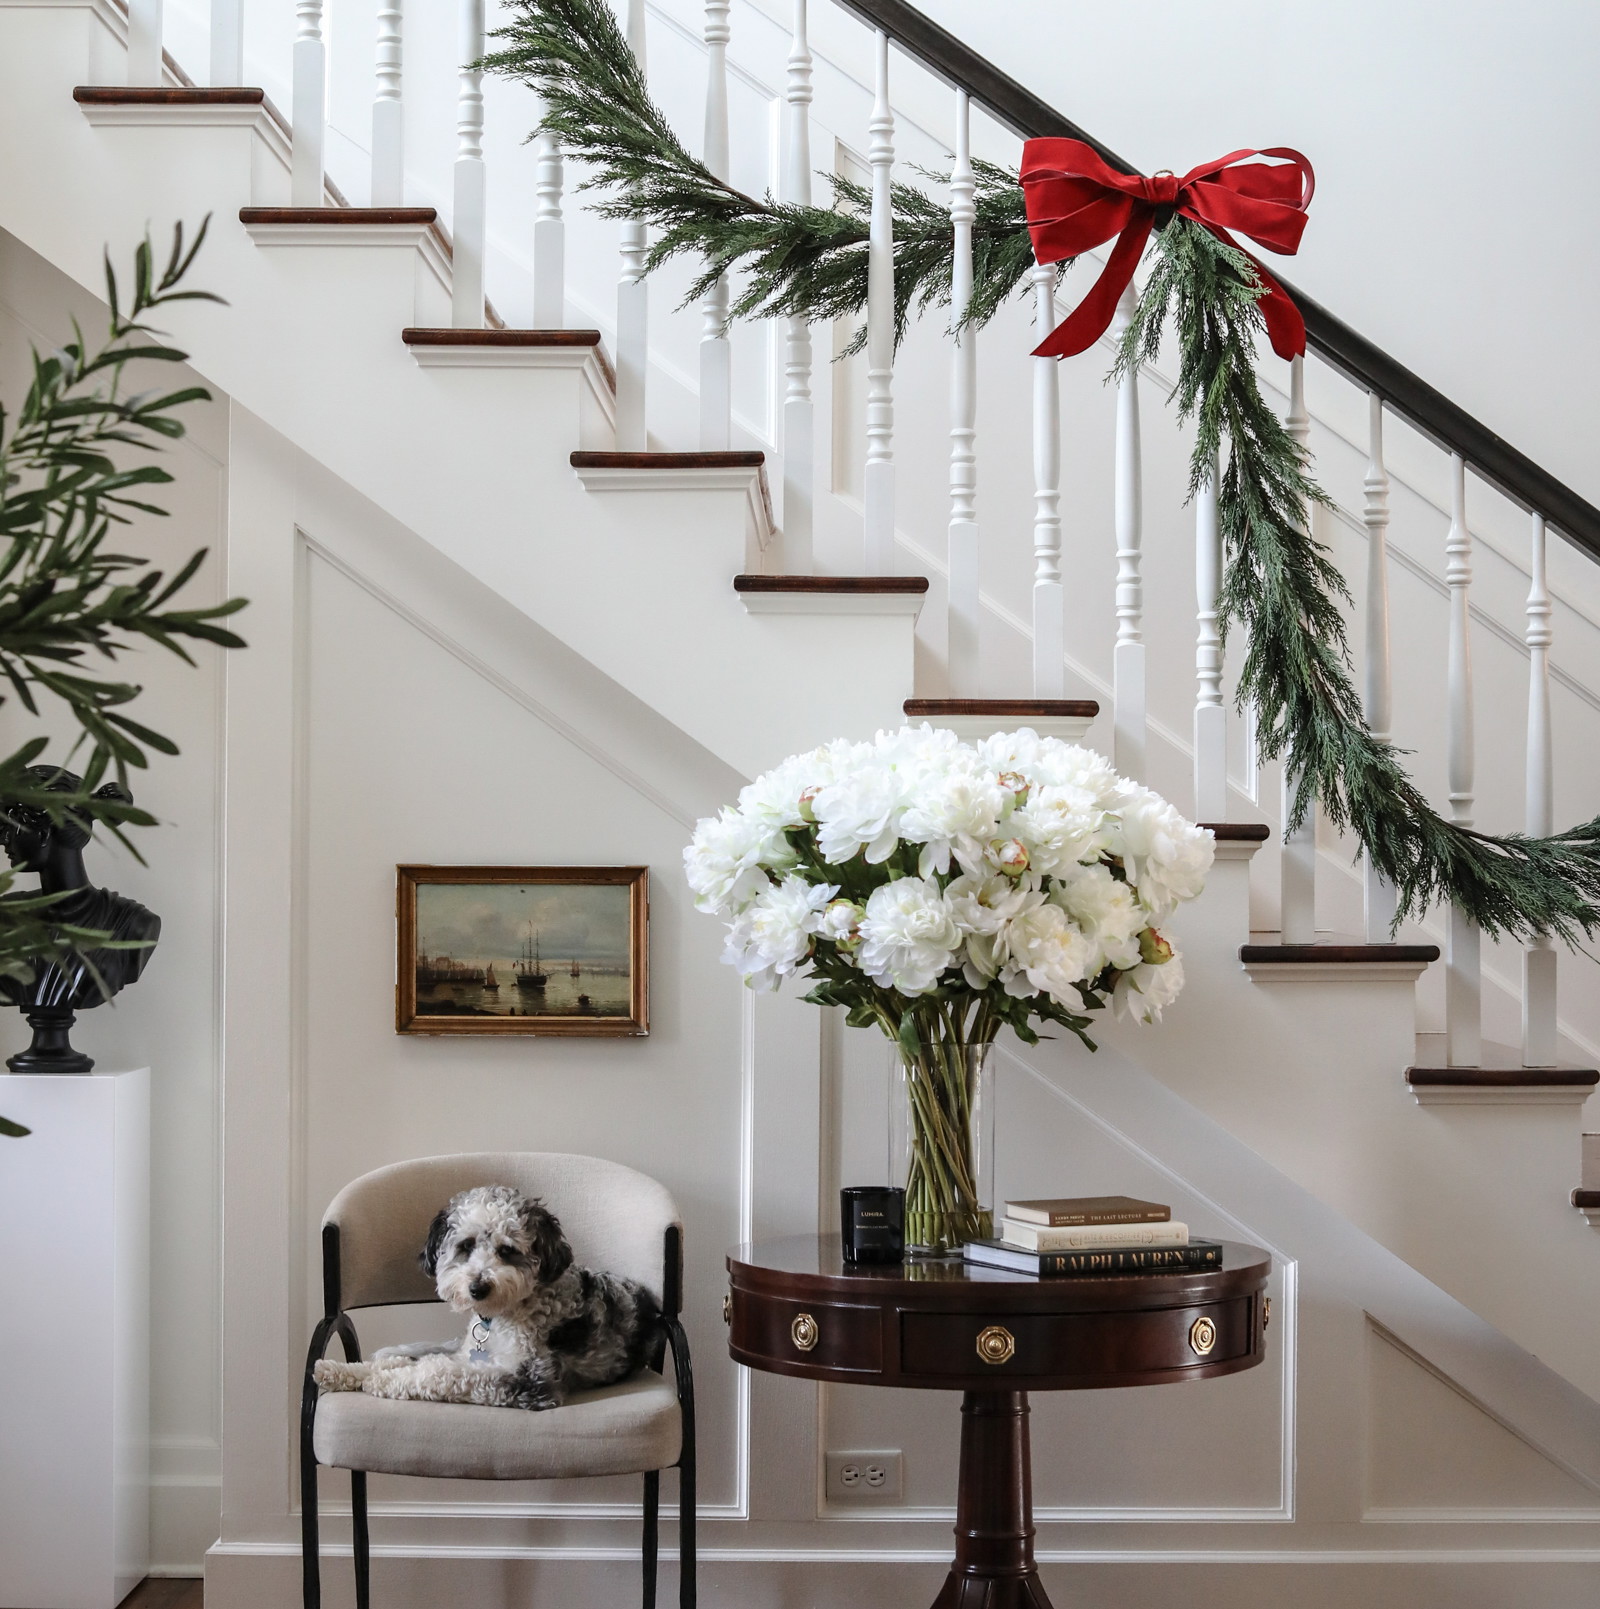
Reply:
[[[0,1609],[150,1564],[150,1070],[0,1075]]]

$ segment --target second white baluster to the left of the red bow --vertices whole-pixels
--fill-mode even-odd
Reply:
[[[868,163],[872,220],[866,288],[866,470],[861,478],[868,574],[895,573],[895,216],[889,183],[895,114],[889,108],[889,35],[879,32]]]

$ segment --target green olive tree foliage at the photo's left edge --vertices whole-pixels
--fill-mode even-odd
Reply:
[[[19,827],[24,811],[52,824],[71,816],[106,827],[138,859],[127,829],[156,819],[134,804],[129,771],[148,766],[146,751],[175,755],[177,745],[127,713],[140,685],[113,674],[113,666],[140,645],[190,665],[188,642],[243,647],[221,624],[245,607],[243,599],[174,605],[204,550],[167,576],[109,545],[114,526],[167,513],[150,500],[150,489],[169,484],[172,475],[151,455],[184,436],[179,410],[211,396],[192,385],[127,386],[132,364],[188,357],[148,323],[150,314],[180,301],[221,301],[184,283],[204,238],[206,224],[192,241],[179,224],[163,265],[146,235],[126,283],[108,253],[105,338],[90,341],[74,319],[69,341],[48,352],[34,349],[23,401],[14,409],[0,404],[0,705],[14,698],[42,718],[56,700],[76,727],[60,763],[43,763],[48,737],[32,737],[0,758],[0,825]],[[64,785],[68,764],[80,771],[77,785]],[[0,977],[26,983],[42,962],[127,948],[106,933],[53,920],[50,906],[61,895],[14,893],[14,870],[0,872]],[[0,1134],[18,1131],[0,1118]]]

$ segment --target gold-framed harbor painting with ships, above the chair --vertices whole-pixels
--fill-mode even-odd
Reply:
[[[401,866],[399,1033],[641,1035],[642,866]]]

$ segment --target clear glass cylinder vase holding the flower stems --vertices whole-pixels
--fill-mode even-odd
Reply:
[[[959,1257],[995,1223],[992,1044],[927,1035],[895,1043],[889,1178],[906,1191],[906,1257]]]

